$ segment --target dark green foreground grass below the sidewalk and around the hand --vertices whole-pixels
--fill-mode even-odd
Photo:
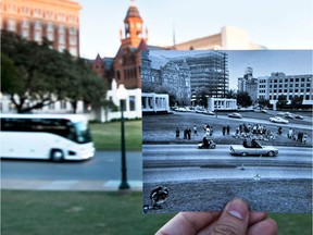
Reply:
[[[141,200],[141,193],[1,190],[1,234],[154,234],[174,214],[143,215]],[[312,234],[312,214],[271,217],[278,234]]]

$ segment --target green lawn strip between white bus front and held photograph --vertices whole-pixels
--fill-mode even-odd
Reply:
[[[90,124],[97,150],[121,149],[121,122]],[[126,150],[141,150],[141,120],[125,122]]]

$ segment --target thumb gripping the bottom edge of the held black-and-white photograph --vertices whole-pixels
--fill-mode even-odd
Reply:
[[[249,206],[242,199],[231,200],[212,227],[212,234],[243,235],[249,223]]]

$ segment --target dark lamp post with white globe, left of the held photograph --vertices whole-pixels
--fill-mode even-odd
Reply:
[[[124,102],[127,98],[127,90],[123,84],[121,84],[117,88],[116,96],[120,99],[121,107],[121,145],[122,145],[122,182],[120,184],[120,189],[128,189],[130,188],[127,183],[127,168],[126,168],[126,153],[125,153],[125,128],[124,128]]]

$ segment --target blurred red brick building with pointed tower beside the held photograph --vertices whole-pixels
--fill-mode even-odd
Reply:
[[[121,46],[115,58],[101,59],[98,54],[92,70],[111,85],[115,78],[117,86],[126,89],[141,88],[141,50],[161,49],[148,46],[148,29],[143,32],[143,21],[135,4],[132,4],[124,18],[124,34],[120,32]]]

